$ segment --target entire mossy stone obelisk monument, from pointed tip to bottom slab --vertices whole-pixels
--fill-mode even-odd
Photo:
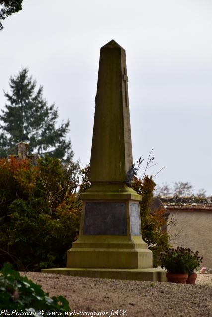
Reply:
[[[67,267],[43,270],[88,277],[166,281],[143,241],[138,195],[131,187],[132,145],[125,50],[101,48],[90,159],[78,239]]]

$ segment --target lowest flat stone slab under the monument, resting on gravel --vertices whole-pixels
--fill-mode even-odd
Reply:
[[[42,273],[62,274],[80,277],[125,279],[135,281],[167,282],[166,272],[158,268],[108,269],[108,268],[48,268]]]

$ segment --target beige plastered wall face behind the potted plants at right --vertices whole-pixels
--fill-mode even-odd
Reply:
[[[212,268],[212,206],[167,206],[170,211],[168,232],[173,247],[198,250],[201,267]],[[170,220],[178,223],[170,225]]]

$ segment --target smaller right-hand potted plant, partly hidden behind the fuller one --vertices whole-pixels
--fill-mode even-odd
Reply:
[[[203,257],[199,256],[199,252],[193,252],[188,249],[188,278],[186,280],[186,284],[195,284],[195,280],[197,278],[197,274],[195,270],[199,268],[200,263],[202,262]]]

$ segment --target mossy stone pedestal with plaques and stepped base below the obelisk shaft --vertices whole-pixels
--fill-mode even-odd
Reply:
[[[82,198],[79,237],[67,251],[67,267],[42,272],[167,281],[163,270],[152,268],[152,251],[141,236],[140,195],[125,184],[96,184]]]

